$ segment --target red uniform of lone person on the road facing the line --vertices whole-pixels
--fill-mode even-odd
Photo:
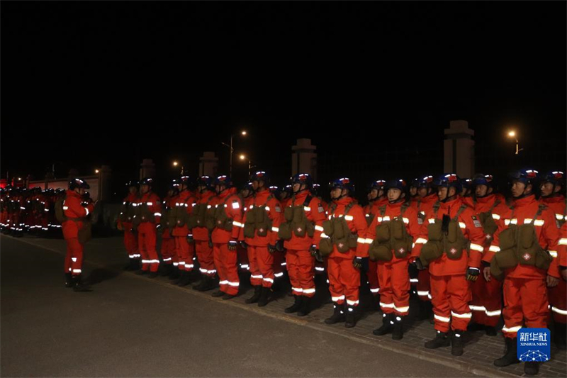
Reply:
[[[65,273],[78,276],[83,266],[83,245],[79,243],[79,230],[84,226],[82,219],[94,210],[94,206],[82,206],[81,196],[72,190],[67,190],[67,196],[63,202],[64,216],[69,218],[62,224],[63,238],[67,243],[67,254],[65,255]]]

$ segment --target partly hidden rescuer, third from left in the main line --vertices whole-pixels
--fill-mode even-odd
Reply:
[[[174,211],[176,211],[175,199],[179,194],[179,180],[173,179],[172,184],[167,189],[167,194],[162,200],[162,217],[160,219],[160,230],[162,231],[162,245],[159,250],[162,255],[163,265],[161,265],[163,277],[169,276],[173,272],[174,260],[177,260],[175,250],[175,239],[172,230],[175,226]],[[192,262],[191,262],[192,264]],[[184,268],[184,267],[183,267]]]

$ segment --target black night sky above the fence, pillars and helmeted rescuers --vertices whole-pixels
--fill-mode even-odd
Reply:
[[[50,162],[135,174],[241,126],[289,159],[440,143],[566,140],[566,3],[11,2],[1,7],[1,176]],[[337,130],[338,128],[338,130]],[[191,172],[193,173],[193,172]]]

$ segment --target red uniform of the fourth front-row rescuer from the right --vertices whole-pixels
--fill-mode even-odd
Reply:
[[[364,210],[359,205],[352,206],[347,215],[344,214],[352,201],[352,198],[348,196],[342,197],[333,201],[331,208],[327,211],[329,219],[344,217],[349,230],[358,236],[357,247],[351,248],[348,252],[339,252],[337,245],[333,244],[333,250],[327,257],[327,274],[332,301],[341,305],[346,300],[347,305],[358,306],[360,271],[352,265],[352,262],[355,257],[368,257],[368,248],[366,248],[364,238],[368,223],[366,223]]]

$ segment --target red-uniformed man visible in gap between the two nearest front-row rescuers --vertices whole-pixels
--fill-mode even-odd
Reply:
[[[498,228],[498,220],[506,211],[506,200],[501,194],[494,192],[494,178],[490,174],[477,174],[471,182],[471,204],[478,214],[477,221],[481,222],[485,233],[483,248],[488,252],[492,245],[493,235]],[[483,262],[483,266],[488,263]],[[495,326],[502,313],[502,282],[498,279],[487,281],[480,277],[472,284],[473,300],[471,301],[470,330],[485,330],[486,335],[495,336]]]

